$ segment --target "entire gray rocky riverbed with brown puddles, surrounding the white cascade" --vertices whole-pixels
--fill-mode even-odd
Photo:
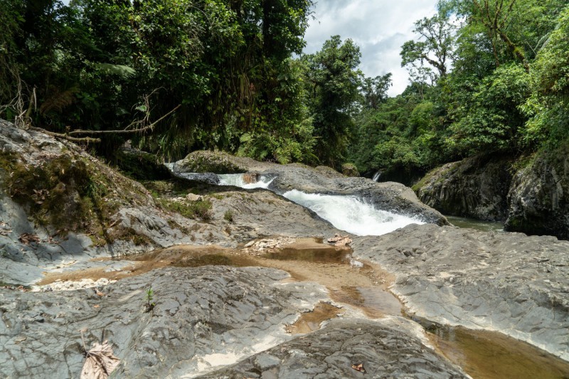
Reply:
[[[198,153],[184,171],[270,175],[274,192],[181,179],[142,186],[73,144],[7,123],[0,150],[7,378],[77,378],[85,350],[105,340],[119,378],[467,377],[413,317],[527,341],[565,360],[541,363],[555,366],[551,377],[569,375],[568,242],[438,226],[445,218],[409,188],[324,168]],[[54,169],[62,156],[69,165]],[[90,191],[61,172],[80,161]],[[23,196],[34,167],[65,191],[36,181],[39,194]],[[346,233],[280,196],[290,188],[360,196],[430,223],[336,247],[326,240]],[[45,222],[57,212],[82,222]]]

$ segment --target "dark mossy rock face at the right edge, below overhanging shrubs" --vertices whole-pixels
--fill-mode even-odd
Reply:
[[[569,240],[569,146],[542,153],[511,185],[505,229]]]

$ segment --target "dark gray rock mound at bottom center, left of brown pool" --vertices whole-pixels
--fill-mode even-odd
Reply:
[[[322,330],[201,378],[468,378],[388,324],[333,320]]]

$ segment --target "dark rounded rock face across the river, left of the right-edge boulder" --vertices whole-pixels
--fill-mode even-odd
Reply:
[[[420,201],[447,215],[506,220],[512,160],[476,156],[445,164],[413,188]]]

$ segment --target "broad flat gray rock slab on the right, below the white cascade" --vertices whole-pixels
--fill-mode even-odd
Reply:
[[[569,242],[409,225],[351,245],[395,273],[410,314],[501,331],[569,361]]]

